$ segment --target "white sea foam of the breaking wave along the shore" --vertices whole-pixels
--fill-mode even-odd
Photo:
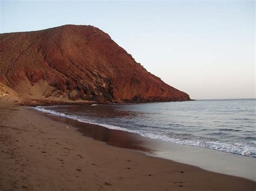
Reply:
[[[93,104],[97,105],[97,104]],[[109,124],[102,124],[98,123],[95,121],[92,121],[90,119],[85,119],[82,117],[78,116],[72,116],[72,115],[66,115],[62,112],[57,112],[54,110],[49,110],[45,109],[47,107],[41,107],[38,106],[34,109],[42,112],[46,112],[55,116],[61,116],[61,117],[66,117],[70,119],[75,119],[79,122],[83,123],[90,123],[90,124],[95,124],[95,125],[100,125],[104,126],[107,129],[113,129],[113,130],[122,130],[122,131],[128,131],[132,133],[138,133],[139,135],[143,137],[148,137],[152,139],[160,139],[164,140],[166,142],[172,142],[172,143],[177,143],[177,144],[183,144],[183,145],[191,145],[191,146],[199,146],[199,147],[204,147],[204,148],[210,148],[213,150],[218,150],[218,151],[224,151],[224,152],[229,152],[229,153],[235,153],[235,154],[241,154],[241,155],[246,155],[250,157],[256,157],[256,150],[253,147],[247,146],[242,143],[230,143],[230,142],[219,142],[219,141],[206,141],[206,140],[188,140],[188,139],[182,139],[182,138],[172,138],[167,135],[165,135],[164,132],[161,131],[142,131],[142,130],[131,130],[131,129],[126,129],[122,128],[120,126],[114,126],[114,125],[109,125]],[[253,142],[253,141],[252,141]],[[255,143],[255,142],[253,142]]]

